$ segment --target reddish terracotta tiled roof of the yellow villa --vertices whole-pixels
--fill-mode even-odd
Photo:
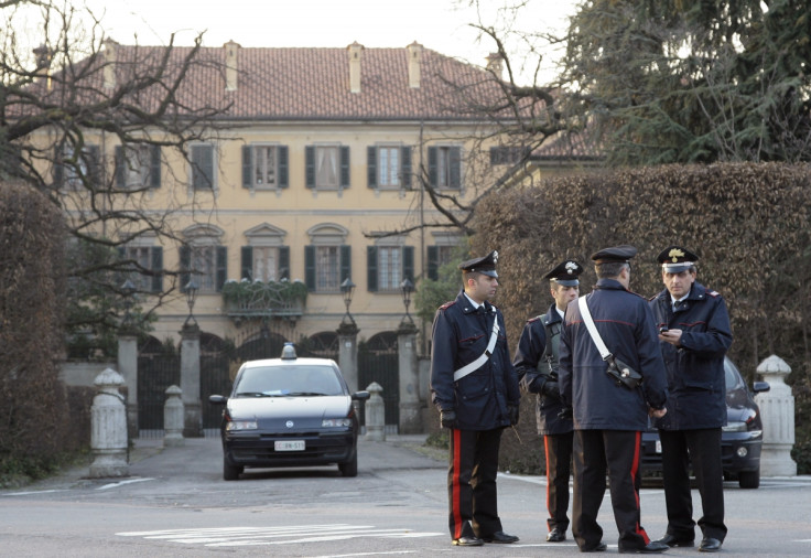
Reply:
[[[143,75],[164,55],[165,47],[115,45],[116,79]],[[497,83],[482,68],[423,49],[420,87],[409,86],[409,51],[402,49],[364,49],[360,58],[360,92],[349,90],[349,52],[339,49],[238,49],[236,90],[226,90],[224,47],[202,47],[196,64],[179,88],[176,98],[187,111],[203,107],[226,109],[224,118],[260,120],[467,120],[458,111],[459,95],[484,99],[499,96]],[[192,47],[174,47],[169,77],[180,71]],[[88,96],[104,90],[101,64],[96,54],[74,69],[94,68],[87,73]],[[65,72],[67,74],[67,72]],[[54,89],[57,95],[58,74]],[[163,79],[166,83],[167,79]],[[465,88],[459,93],[457,84]],[[44,87],[42,83],[37,84]],[[152,94],[141,92],[129,99],[151,109],[162,94],[159,85]],[[108,90],[109,92],[109,90]],[[456,107],[456,108],[454,108]],[[220,117],[223,118],[223,117]]]

